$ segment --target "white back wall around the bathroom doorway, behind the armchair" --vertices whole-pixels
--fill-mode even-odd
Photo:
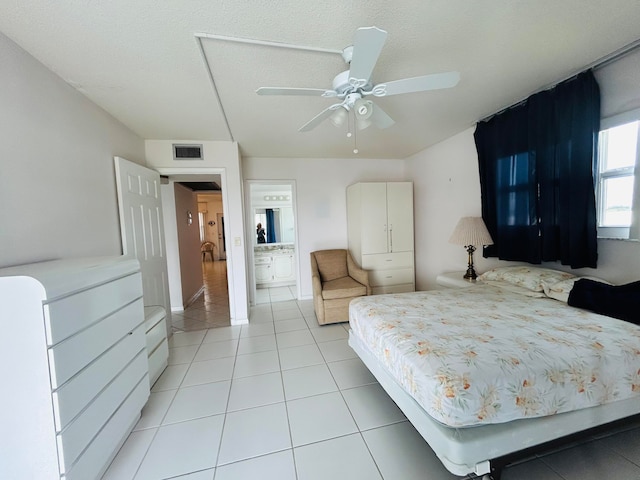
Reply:
[[[312,297],[310,252],[347,248],[347,187],[356,182],[408,180],[404,162],[396,159],[244,158],[242,162],[245,180],[296,182],[302,298]]]

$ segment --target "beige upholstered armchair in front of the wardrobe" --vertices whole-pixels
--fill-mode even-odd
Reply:
[[[349,302],[371,295],[369,272],[356,265],[348,250],[311,252],[311,282],[320,325],[349,321]]]

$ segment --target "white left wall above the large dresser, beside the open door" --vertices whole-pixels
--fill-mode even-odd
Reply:
[[[144,142],[0,34],[0,267],[122,252],[113,157]]]

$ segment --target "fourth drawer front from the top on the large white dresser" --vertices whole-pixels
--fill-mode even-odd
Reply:
[[[71,469],[82,451],[109,422],[111,416],[135,390],[140,380],[146,379],[147,371],[147,355],[142,351],[87,406],[80,416],[76,417],[67,428],[57,435],[61,472],[67,472]],[[148,384],[145,386],[148,391]]]

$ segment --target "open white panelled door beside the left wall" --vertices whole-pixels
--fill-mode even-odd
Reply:
[[[167,258],[158,172],[115,157],[122,252],[136,257],[145,306],[164,307],[171,325]]]

